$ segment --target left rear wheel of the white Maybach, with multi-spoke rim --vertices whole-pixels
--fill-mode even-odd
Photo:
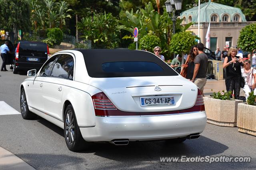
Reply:
[[[88,142],[84,141],[82,137],[71,104],[66,107],[64,118],[64,137],[68,149],[71,151],[83,150]]]

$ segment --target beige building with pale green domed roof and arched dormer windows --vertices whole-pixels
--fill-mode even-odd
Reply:
[[[213,1],[213,0],[212,0]],[[226,6],[215,2],[200,5],[200,35],[201,42],[206,44],[206,32],[210,23],[210,49],[215,51],[217,47],[223,49],[226,46],[236,46],[240,30],[255,22],[248,22],[240,8]],[[198,35],[198,6],[186,10],[178,16],[182,19],[182,25],[194,22],[187,30]]]

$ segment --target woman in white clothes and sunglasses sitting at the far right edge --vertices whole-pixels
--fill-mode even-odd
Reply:
[[[244,93],[247,100],[249,93],[254,90],[256,92],[256,69],[251,67],[251,61],[244,61],[244,68],[241,69],[242,77],[244,78]]]

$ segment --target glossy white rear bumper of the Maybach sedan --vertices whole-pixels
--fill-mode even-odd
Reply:
[[[96,117],[95,127],[80,127],[84,140],[150,141],[186,137],[202,133],[206,125],[205,111],[164,116]]]

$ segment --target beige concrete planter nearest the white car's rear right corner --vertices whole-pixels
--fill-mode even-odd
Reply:
[[[236,127],[238,103],[242,102],[242,100],[220,100],[204,97],[207,123]]]

